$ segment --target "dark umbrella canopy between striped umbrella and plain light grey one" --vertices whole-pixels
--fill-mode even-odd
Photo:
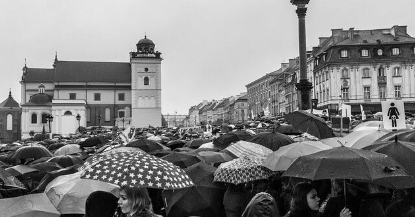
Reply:
[[[278,148],[294,143],[295,141],[282,133],[263,132],[256,134],[252,138],[248,139],[247,142],[263,145],[273,151],[276,151]]]

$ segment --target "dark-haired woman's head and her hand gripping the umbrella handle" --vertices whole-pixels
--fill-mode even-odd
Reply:
[[[291,211],[286,217],[317,217],[320,198],[313,184],[299,182],[292,192]],[[349,209],[341,210],[339,217],[351,217]]]

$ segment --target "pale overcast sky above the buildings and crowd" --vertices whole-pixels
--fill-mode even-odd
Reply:
[[[408,26],[414,0],[311,0],[307,47],[331,29]],[[65,61],[128,62],[152,39],[162,62],[162,112],[188,113],[203,100],[246,92],[245,85],[298,56],[290,0],[0,0],[0,102],[20,103],[22,67]]]

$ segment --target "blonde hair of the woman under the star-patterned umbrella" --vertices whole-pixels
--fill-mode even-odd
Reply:
[[[130,201],[132,214],[150,211],[153,213],[153,206],[145,187],[128,187],[123,186],[126,198]]]

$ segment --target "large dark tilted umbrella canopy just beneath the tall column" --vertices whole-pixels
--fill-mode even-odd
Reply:
[[[319,139],[335,137],[324,119],[304,110],[294,111],[285,116],[295,129],[311,134]]]

